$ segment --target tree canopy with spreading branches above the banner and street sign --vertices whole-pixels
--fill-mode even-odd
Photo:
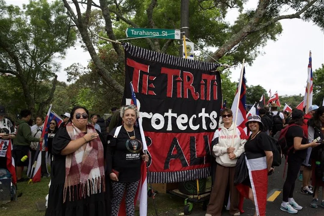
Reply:
[[[73,4],[68,0],[62,1],[69,17],[79,30],[97,73],[106,85],[122,94],[122,84],[111,75],[112,71],[105,68],[95,49],[100,44],[100,41],[97,43],[96,35],[120,40],[125,38],[124,31],[127,27],[179,29],[181,2],[189,0],[99,0],[99,2],[72,0]],[[190,0],[189,2],[189,38],[200,47],[215,47],[217,50],[211,53],[212,57],[230,65],[238,64],[243,58],[251,64],[260,54],[260,48],[265,46],[268,40],[276,40],[282,32],[279,20],[303,18],[313,21],[324,29],[322,16],[324,0],[259,0],[254,10],[247,11],[243,8],[247,0]],[[86,8],[84,13],[80,9],[81,6]],[[282,15],[282,10],[286,6],[293,9],[294,13]],[[241,13],[235,23],[230,25],[225,17],[227,11],[232,8],[238,8]],[[98,23],[102,24],[96,25]],[[133,40],[132,43],[153,51],[174,55],[178,55],[180,45],[176,40],[149,38]],[[123,64],[123,51],[118,44],[112,43],[102,47],[99,45],[99,52],[100,48],[104,51],[107,49],[109,53],[112,51],[116,53],[117,58],[113,65]],[[206,61],[214,61],[207,56],[204,57]]]

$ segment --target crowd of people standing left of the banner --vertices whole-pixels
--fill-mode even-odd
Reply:
[[[75,106],[70,113],[61,115],[59,127],[52,119],[47,129],[46,155],[45,147],[39,149],[39,142],[44,141],[44,117],[36,116],[31,126],[31,111],[22,110],[15,126],[0,105],[0,139],[13,140],[17,182],[31,178],[30,169],[29,177],[23,177],[24,167],[30,168],[36,152],[41,153],[41,176],[51,177],[46,215],[117,216],[123,191],[126,215],[135,214],[141,161],[148,161],[139,129],[134,127],[139,112],[130,105],[112,108],[112,114],[105,122],[97,114],[89,115],[87,108]],[[113,128],[110,133],[109,127]],[[51,174],[47,159],[51,161]],[[0,163],[6,167],[6,161]]]

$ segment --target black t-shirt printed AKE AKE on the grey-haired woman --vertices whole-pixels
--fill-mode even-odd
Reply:
[[[135,182],[141,176],[143,144],[140,131],[137,128],[134,130],[136,138],[131,140],[129,136],[134,136],[134,131],[128,132],[128,135],[125,128],[121,127],[116,142],[110,142],[109,145],[112,155],[111,167],[119,172],[119,182]]]

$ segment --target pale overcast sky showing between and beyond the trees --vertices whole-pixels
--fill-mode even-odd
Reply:
[[[22,6],[28,0],[6,0],[7,4]],[[257,0],[250,0],[245,8],[256,8]],[[281,15],[293,11],[283,12]],[[232,9],[226,19],[233,23],[238,12]],[[324,63],[324,36],[323,32],[313,23],[301,19],[285,19],[280,21],[283,32],[278,40],[269,41],[261,52],[265,53],[256,58],[252,66],[246,65],[247,85],[261,85],[272,94],[278,91],[279,95],[304,95],[307,81],[307,65],[309,51],[312,51],[313,71]],[[126,38],[126,35],[125,35]],[[58,74],[60,81],[66,82],[67,75],[64,68],[73,63],[86,66],[90,59],[88,52],[84,52],[77,43],[68,50],[62,64],[62,72]],[[237,81],[240,68],[232,69],[232,81]]]

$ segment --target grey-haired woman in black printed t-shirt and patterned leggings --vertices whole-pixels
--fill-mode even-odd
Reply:
[[[126,215],[135,215],[134,199],[141,176],[141,160],[148,161],[143,153],[139,128],[134,127],[139,111],[134,105],[120,109],[123,124],[114,128],[107,137],[107,172],[111,180],[111,216],[117,216],[126,190]]]

